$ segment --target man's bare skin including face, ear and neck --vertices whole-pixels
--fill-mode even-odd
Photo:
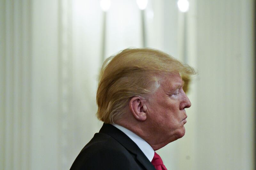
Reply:
[[[151,100],[133,97],[126,114],[116,122],[148,142],[158,150],[185,135],[187,122],[185,108],[191,106],[182,89],[183,81],[179,73],[165,77]]]

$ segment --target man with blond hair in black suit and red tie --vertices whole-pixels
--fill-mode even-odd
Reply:
[[[108,58],[97,90],[104,124],[71,169],[166,169],[155,151],[184,136],[191,103],[180,75],[195,73],[154,49],[125,49]]]

